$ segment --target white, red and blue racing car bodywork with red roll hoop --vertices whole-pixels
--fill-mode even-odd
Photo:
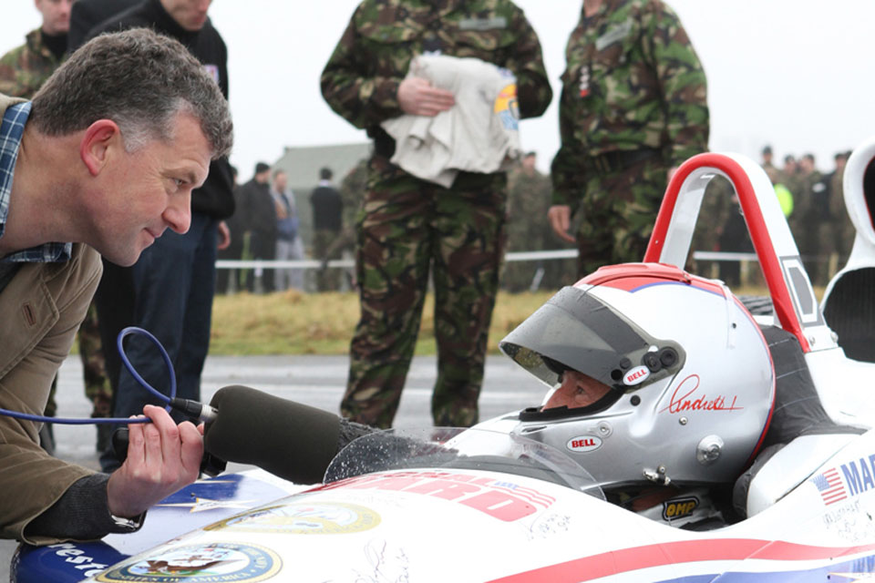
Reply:
[[[846,170],[858,237],[849,267],[829,285],[828,306],[839,302],[842,276],[875,267],[872,195],[863,188],[873,144],[855,150]],[[738,155],[688,160],[668,186],[644,261],[685,266],[705,186],[716,175],[736,189],[767,282],[773,310],[757,320],[795,336],[823,409],[852,429],[800,435],[759,465],[746,487],[745,519],[705,531],[676,527],[708,504],[695,492],[664,501],[658,517],[611,504],[589,478],[585,458],[514,435],[509,414],[468,431],[360,438],[335,458],[326,483],[314,487],[263,472],[201,481],[150,510],[147,527],[135,535],[22,547],[13,580],[875,578],[875,363],[842,349],[841,334],[825,318],[831,308],[818,304],[765,172]],[[873,292],[848,293],[875,309]],[[875,336],[871,326],[864,332]],[[222,516],[199,518],[199,507]]]

